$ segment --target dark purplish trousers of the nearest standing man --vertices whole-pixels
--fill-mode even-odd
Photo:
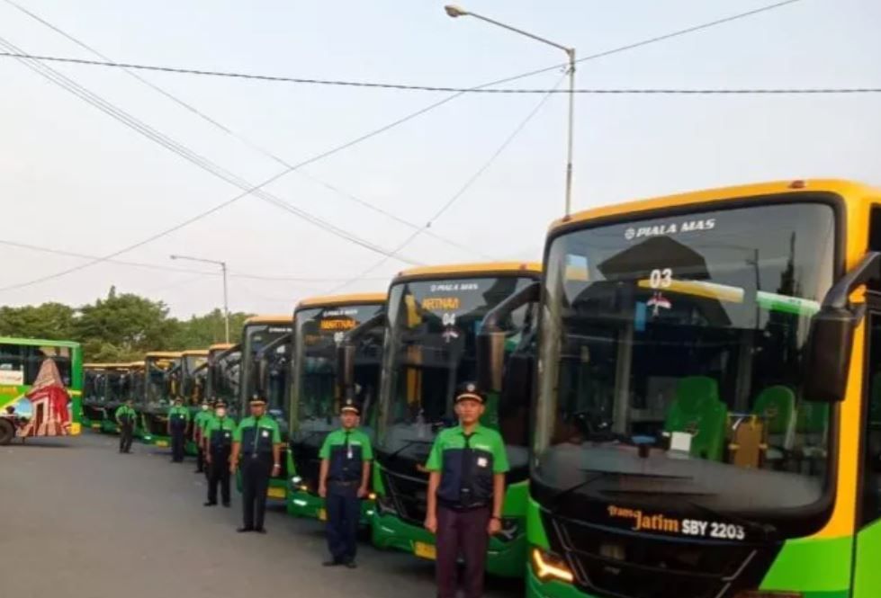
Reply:
[[[454,511],[438,505],[435,570],[438,598],[455,598],[456,559],[460,554],[465,561],[462,580],[465,598],[480,598],[483,594],[483,567],[490,541],[486,532],[489,522],[489,506]]]

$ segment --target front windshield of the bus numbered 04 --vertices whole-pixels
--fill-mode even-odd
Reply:
[[[476,337],[491,308],[533,279],[518,276],[408,281],[391,287],[388,332],[382,359],[380,451],[424,452],[443,427],[456,422],[456,387],[477,376]],[[505,327],[516,346],[526,322],[526,306]],[[488,404],[483,423],[499,424]],[[506,439],[508,442],[508,439]],[[526,442],[525,439],[522,442]]]

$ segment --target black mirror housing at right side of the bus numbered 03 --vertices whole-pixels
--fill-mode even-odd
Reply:
[[[850,309],[823,308],[811,321],[805,355],[805,400],[844,400],[857,317]]]

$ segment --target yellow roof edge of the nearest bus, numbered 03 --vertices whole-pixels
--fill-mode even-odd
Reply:
[[[646,200],[625,201],[624,203],[591,208],[590,210],[576,212],[568,218],[554,220],[549,232],[554,232],[560,228],[569,227],[579,222],[613,217],[620,214],[660,210],[662,208],[675,208],[701,203],[713,203],[715,201],[735,200],[739,198],[760,197],[763,195],[780,195],[800,192],[837,192],[845,197],[848,195],[859,195],[862,196],[863,199],[867,197],[881,199],[881,191],[877,189],[873,189],[862,183],[854,183],[852,181],[844,181],[840,179],[808,179],[804,181],[796,180],[753,183],[696,192],[677,193]]]

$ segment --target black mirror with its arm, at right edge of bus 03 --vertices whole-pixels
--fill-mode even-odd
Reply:
[[[853,336],[865,315],[865,305],[852,306],[850,294],[868,281],[881,280],[881,253],[869,252],[836,282],[811,319],[805,353],[803,393],[806,400],[835,403],[844,400],[850,374]]]

